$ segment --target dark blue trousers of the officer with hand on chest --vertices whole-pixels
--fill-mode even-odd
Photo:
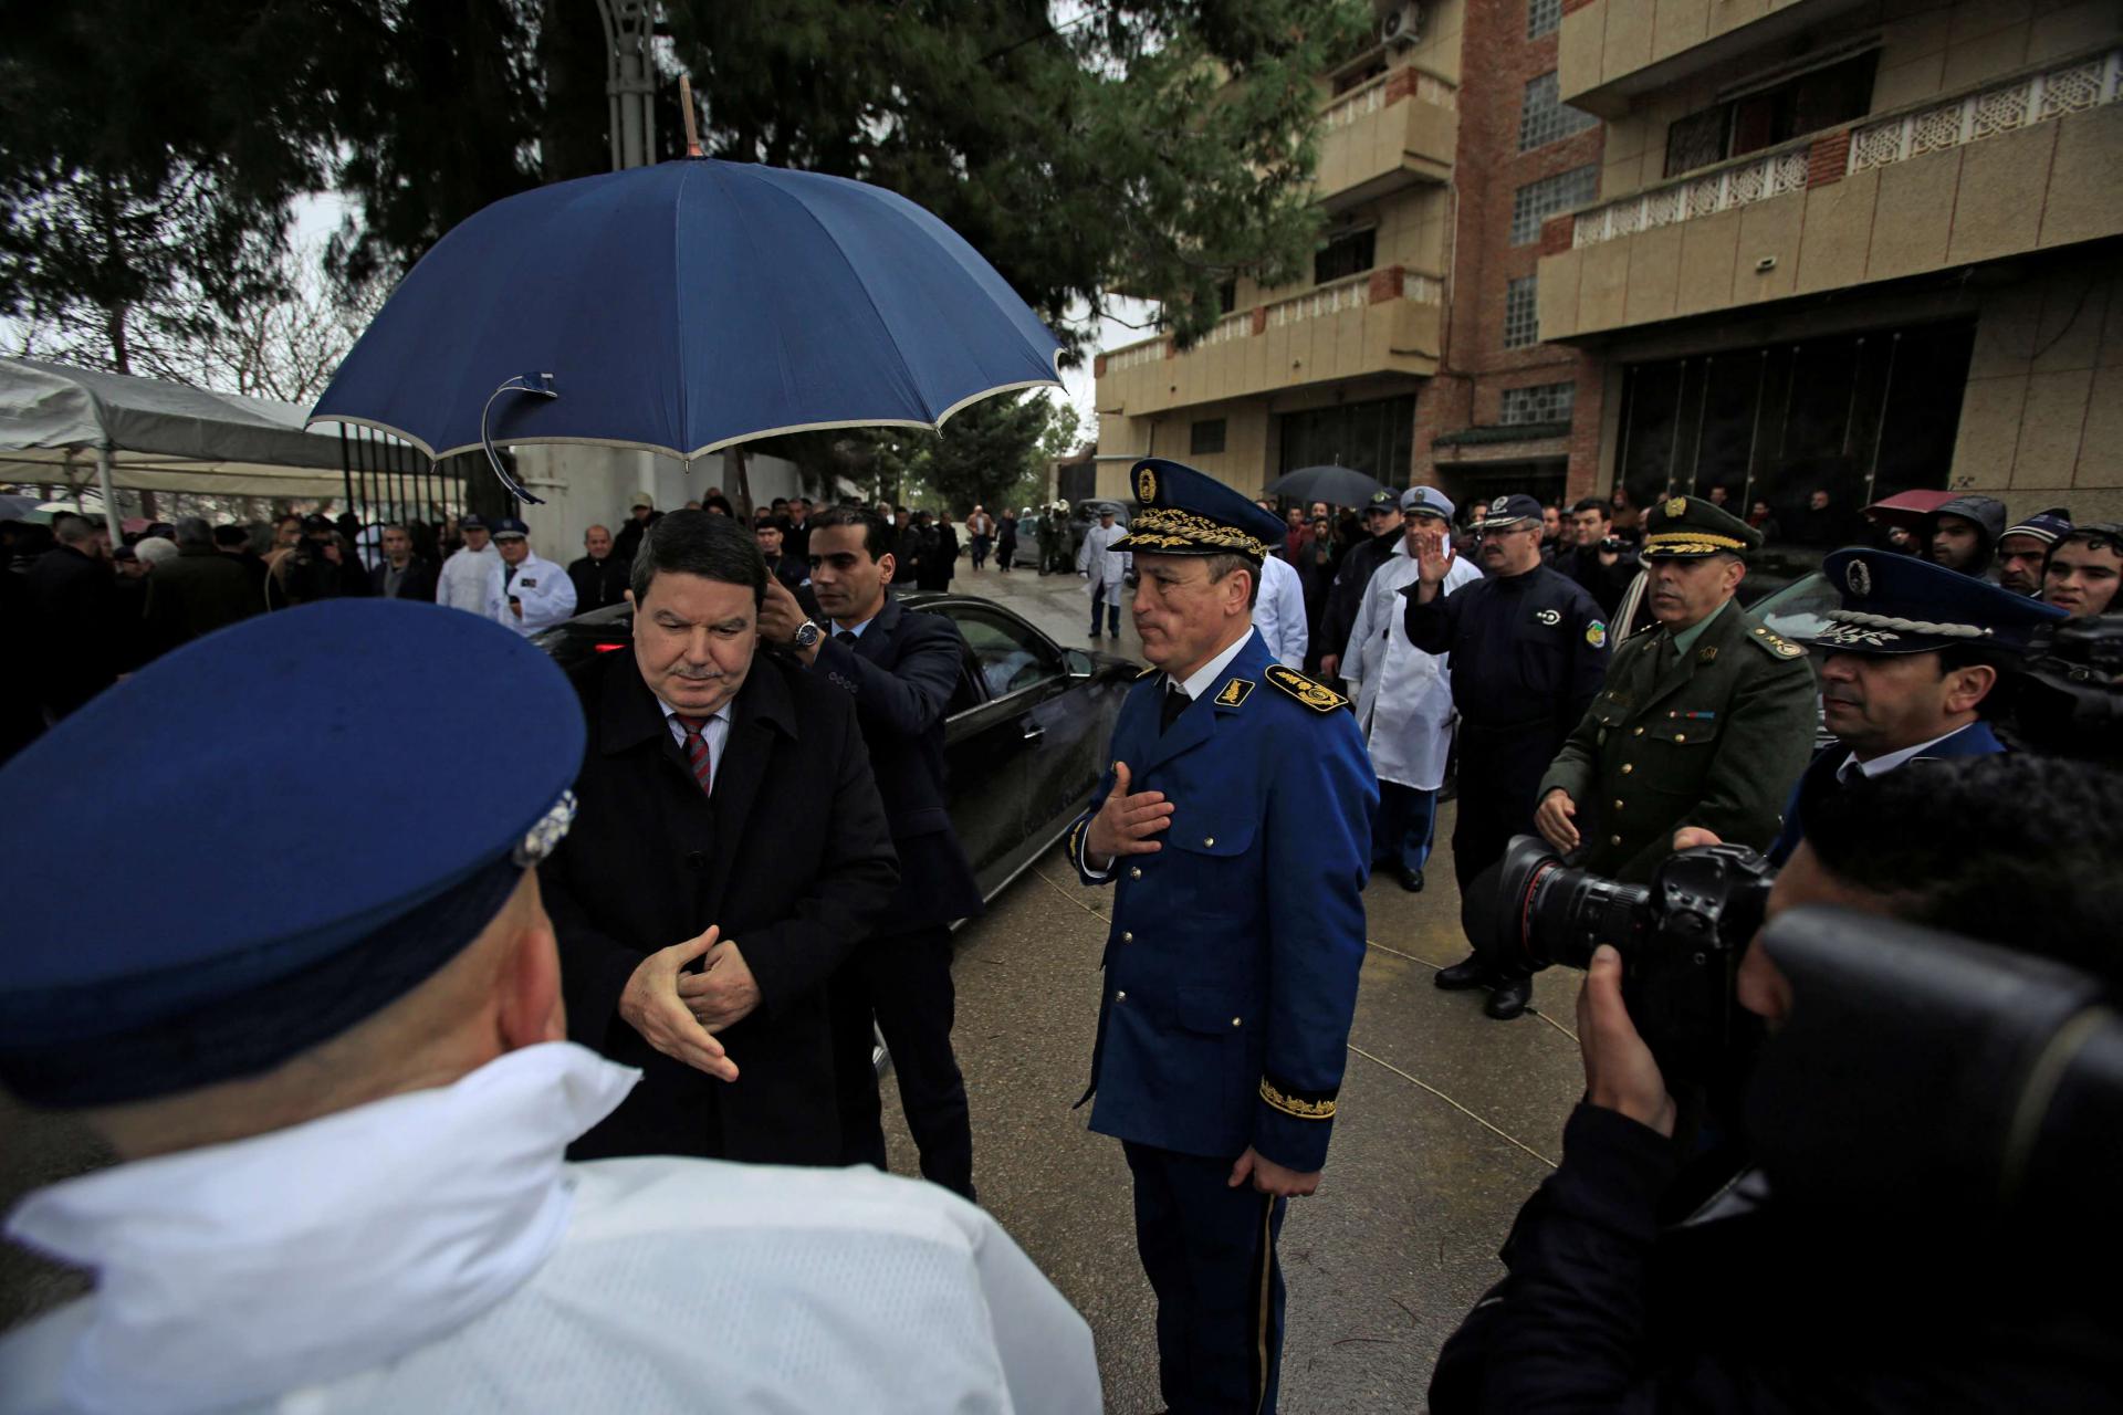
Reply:
[[[1274,1411],[1282,1368],[1289,1201],[1229,1186],[1231,1163],[1123,1141],[1136,1250],[1157,1292],[1157,1370],[1172,1415]]]

